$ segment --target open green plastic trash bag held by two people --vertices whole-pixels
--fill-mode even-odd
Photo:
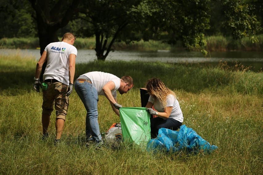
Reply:
[[[151,139],[150,114],[147,108],[120,108],[123,140],[147,144]]]

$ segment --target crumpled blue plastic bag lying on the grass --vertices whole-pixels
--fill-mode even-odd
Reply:
[[[211,153],[217,148],[215,145],[210,145],[192,128],[187,128],[186,125],[182,125],[179,131],[160,128],[157,138],[151,139],[147,144],[148,151],[178,152],[186,149],[188,153],[198,153],[199,151]]]

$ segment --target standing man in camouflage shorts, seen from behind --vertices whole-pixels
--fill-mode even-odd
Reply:
[[[42,104],[43,139],[48,136],[48,125],[55,104],[56,140],[61,138],[69,106],[69,95],[73,90],[75,59],[77,49],[73,46],[76,38],[72,33],[65,33],[61,42],[50,43],[41,55],[35,70],[34,89],[39,92],[42,84],[39,80],[44,62],[47,66],[43,74],[44,83]]]

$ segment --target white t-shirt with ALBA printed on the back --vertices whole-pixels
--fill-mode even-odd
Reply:
[[[43,79],[56,79],[69,85],[69,54],[77,56],[76,47],[62,41],[48,44],[44,51],[47,51],[48,62]]]

